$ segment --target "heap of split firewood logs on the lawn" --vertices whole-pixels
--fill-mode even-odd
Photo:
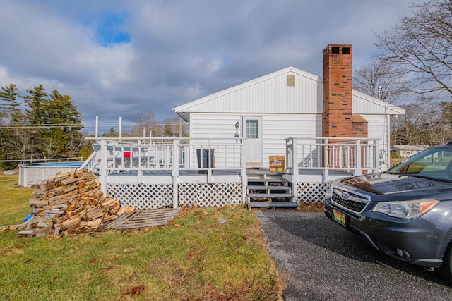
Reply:
[[[18,227],[19,236],[65,236],[102,229],[122,214],[135,210],[104,196],[87,170],[58,173],[32,185],[32,217]]]

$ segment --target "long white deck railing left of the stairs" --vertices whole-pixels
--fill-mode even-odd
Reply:
[[[210,183],[215,173],[225,171],[246,180],[243,139],[190,138],[97,138],[94,152],[81,168],[90,168],[99,175],[102,190],[107,176],[134,172],[141,183],[143,173],[166,173],[174,178],[182,171],[206,175]],[[104,191],[106,192],[106,191]]]

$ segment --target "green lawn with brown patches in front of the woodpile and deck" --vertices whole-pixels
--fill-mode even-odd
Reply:
[[[1,179],[0,226],[20,223],[32,191],[14,188],[17,176]],[[0,266],[0,300],[280,299],[258,221],[234,207],[183,209],[146,231],[30,239],[1,231]]]

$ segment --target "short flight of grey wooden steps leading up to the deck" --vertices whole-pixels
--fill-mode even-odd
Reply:
[[[292,188],[280,173],[249,176],[246,196],[249,208],[298,208]]]

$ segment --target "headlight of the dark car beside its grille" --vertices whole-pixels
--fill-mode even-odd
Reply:
[[[371,211],[380,212],[399,219],[414,219],[422,216],[438,204],[436,199],[415,199],[412,201],[378,202]]]

